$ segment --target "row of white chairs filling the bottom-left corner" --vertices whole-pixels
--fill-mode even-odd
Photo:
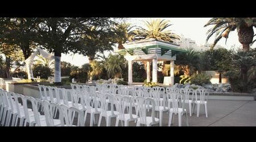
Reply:
[[[10,114],[13,115],[13,123],[11,124],[11,126],[16,126],[18,122],[18,118],[20,118],[20,126],[26,126],[27,123],[29,123],[29,126],[34,126],[34,125],[35,126],[73,126],[72,122],[75,116],[74,112],[78,114],[77,125],[84,126],[84,122],[85,122],[84,114],[82,111],[80,111],[75,107],[60,105],[62,108],[61,110],[59,110],[59,119],[53,119],[55,117],[53,114],[55,111],[57,111],[56,110],[57,106],[59,106],[56,103],[53,103],[53,102],[49,103],[48,101],[42,101],[40,99],[35,99],[33,97],[27,97],[20,94],[9,93],[9,92],[6,92],[6,93],[7,93],[7,97],[9,97],[8,98],[10,102],[9,105],[11,107],[10,111],[7,112],[7,120],[5,123],[6,126],[9,126],[9,120],[11,119]],[[1,98],[2,98],[2,95],[1,95]],[[18,104],[18,98],[22,99],[23,106]],[[32,104],[32,110],[30,108],[27,108],[28,101],[31,102]],[[45,115],[40,115],[38,111],[39,103],[40,105],[42,105],[42,107],[44,107]],[[64,119],[65,119],[65,124],[64,124]]]

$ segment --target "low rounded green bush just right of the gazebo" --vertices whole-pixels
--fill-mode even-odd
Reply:
[[[207,84],[210,82],[210,76],[207,76],[207,74],[199,73],[199,74],[193,74],[191,76],[190,82],[195,85],[202,85],[203,83]]]

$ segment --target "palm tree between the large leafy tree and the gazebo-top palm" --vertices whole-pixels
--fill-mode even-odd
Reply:
[[[130,23],[117,23],[115,24],[113,31],[115,34],[115,40],[118,43],[118,49],[125,49],[122,44],[134,39],[134,32],[131,30],[134,26]]]

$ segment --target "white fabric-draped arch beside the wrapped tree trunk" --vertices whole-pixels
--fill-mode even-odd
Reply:
[[[54,60],[54,55],[51,55],[50,53],[47,53],[43,49],[38,48],[34,53],[32,53],[30,57],[28,57],[28,59],[25,60],[28,80],[34,79],[31,66],[32,66],[32,61],[35,59],[35,56],[38,55],[38,53],[40,53],[44,58],[48,60]]]

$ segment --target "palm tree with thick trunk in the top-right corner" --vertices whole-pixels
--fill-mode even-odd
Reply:
[[[256,27],[256,18],[212,18],[204,27],[213,25],[207,31],[207,41],[209,38],[216,34],[216,38],[211,48],[213,48],[222,37],[226,40],[229,37],[229,33],[237,29],[238,40],[242,44],[244,51],[249,51],[250,44],[253,44],[254,31],[253,27]]]

